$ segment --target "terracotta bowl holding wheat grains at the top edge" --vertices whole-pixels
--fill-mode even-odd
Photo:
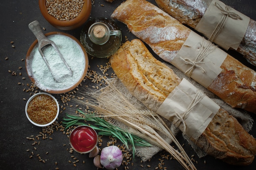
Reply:
[[[57,20],[54,16],[50,15],[46,7],[46,0],[39,0],[39,9],[43,17],[50,24],[52,24],[52,26],[56,27],[57,29],[67,31],[67,30],[76,29],[79,26],[82,26],[88,20],[91,13],[91,9],[92,9],[92,2],[91,0],[83,0],[83,1],[84,1],[83,7],[79,15],[69,21]]]

